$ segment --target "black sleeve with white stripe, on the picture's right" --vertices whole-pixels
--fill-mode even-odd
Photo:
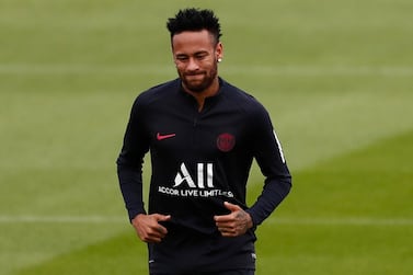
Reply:
[[[265,181],[261,195],[246,210],[254,226],[261,225],[291,188],[291,175],[269,115],[262,108],[259,116],[254,119],[254,157]]]

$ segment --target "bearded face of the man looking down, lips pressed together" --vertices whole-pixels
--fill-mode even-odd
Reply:
[[[222,44],[217,44],[208,31],[175,34],[172,54],[187,91],[200,93],[218,83],[218,58],[222,57]]]

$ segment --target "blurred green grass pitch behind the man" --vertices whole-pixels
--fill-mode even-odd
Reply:
[[[135,96],[176,76],[165,20],[188,5],[221,19],[220,75],[294,176],[256,274],[413,274],[411,0],[0,0],[0,274],[147,273],[115,159]]]

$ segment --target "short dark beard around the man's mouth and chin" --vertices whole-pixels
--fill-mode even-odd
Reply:
[[[198,72],[177,72],[185,89],[194,93],[202,93],[207,90],[215,81],[218,72],[215,66],[209,71]]]

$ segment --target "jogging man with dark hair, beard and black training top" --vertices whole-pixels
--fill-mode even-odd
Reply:
[[[280,144],[265,108],[218,77],[223,48],[214,12],[181,10],[167,26],[179,79],[136,99],[117,159],[130,221],[148,243],[150,274],[254,274],[254,230],[291,186]],[[248,207],[253,158],[265,184]]]

